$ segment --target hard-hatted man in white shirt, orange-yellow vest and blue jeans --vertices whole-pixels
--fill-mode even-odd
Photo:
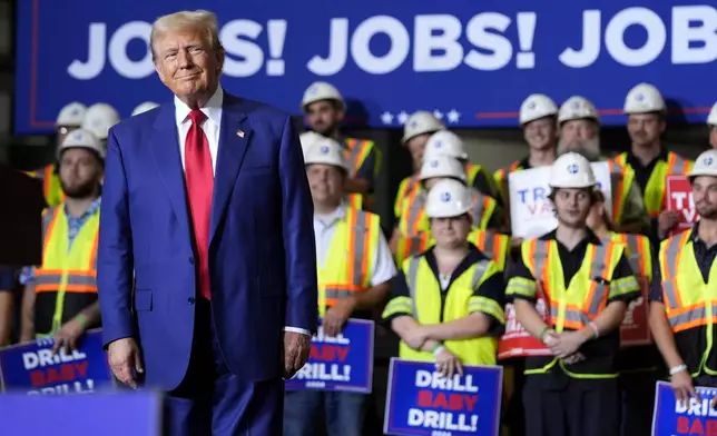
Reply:
[[[305,164],[314,200],[317,315],[323,319],[323,334],[333,337],[348,318],[373,317],[372,311],[389,296],[396,268],[379,216],[343,201],[350,169],[343,147],[334,139],[322,138],[307,149]],[[367,398],[351,392],[287,392],[284,435],[360,436]]]

